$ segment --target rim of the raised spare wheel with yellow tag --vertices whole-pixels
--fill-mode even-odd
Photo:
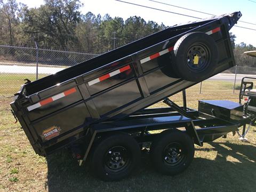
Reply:
[[[196,57],[198,57],[198,62],[196,62]],[[210,60],[210,51],[203,43],[191,45],[186,53],[187,66],[196,73],[203,71],[210,64]]]

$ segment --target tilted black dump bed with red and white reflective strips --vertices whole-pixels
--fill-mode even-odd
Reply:
[[[174,26],[35,82],[27,80],[11,103],[13,113],[36,153],[46,156],[83,139],[94,124],[125,119],[198,83],[173,71],[174,46],[185,36],[200,42],[198,37],[203,44],[209,38],[216,46],[211,49],[220,52],[214,60],[216,67],[202,75],[204,79],[234,66],[228,30],[241,16],[234,12]],[[73,124],[69,118],[74,119]],[[44,136],[53,130],[51,137]]]

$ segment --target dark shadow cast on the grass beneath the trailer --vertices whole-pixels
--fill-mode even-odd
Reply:
[[[194,158],[189,168],[174,177],[157,173],[147,153],[137,173],[119,182],[103,182],[79,167],[65,151],[47,157],[49,191],[255,191],[256,148],[229,142],[210,142],[214,161]],[[197,151],[205,150],[197,149]],[[206,153],[207,150],[206,150]],[[227,159],[233,159],[230,162]]]

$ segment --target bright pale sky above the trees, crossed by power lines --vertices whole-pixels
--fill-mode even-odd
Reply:
[[[149,0],[122,0],[126,2],[131,2],[135,4],[140,4],[144,6],[154,7],[156,9],[162,9],[171,12],[177,12],[181,14],[191,15],[198,18],[208,18],[210,15],[203,13],[196,13],[193,11],[183,10],[177,7],[163,5]],[[222,15],[226,13],[232,13],[235,11],[241,11],[243,14],[241,21],[255,23],[255,25],[249,25],[243,22],[238,22],[237,26],[252,28],[255,30],[243,29],[239,27],[233,27],[230,32],[236,35],[236,44],[244,42],[246,44],[252,44],[256,47],[256,0],[215,0],[215,1],[205,1],[205,0],[155,0],[162,3],[172,4],[175,6],[186,7],[187,9],[193,9],[201,12],[211,13],[214,15]],[[43,0],[18,0],[18,2],[24,3],[29,7],[39,7],[44,4]],[[124,20],[127,18],[137,15],[146,21],[152,20],[158,24],[163,24],[165,26],[173,26],[179,23],[195,21],[197,19],[185,17],[178,14],[162,12],[158,10],[148,9],[146,7],[140,7],[135,5],[130,5],[115,0],[81,0],[83,7],[81,8],[81,13],[86,14],[87,12],[92,12],[93,14],[109,14],[110,17],[121,17]]]

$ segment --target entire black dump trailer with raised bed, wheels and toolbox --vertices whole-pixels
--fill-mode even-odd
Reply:
[[[242,104],[230,101],[186,107],[188,87],[235,66],[229,29],[241,16],[234,12],[170,27],[27,80],[11,103],[14,117],[37,154],[71,146],[79,164],[87,159],[103,180],[129,175],[148,142],[157,170],[178,174],[192,161],[194,143],[202,146],[252,119]],[[183,107],[167,99],[180,91]],[[161,100],[169,107],[147,109]]]

